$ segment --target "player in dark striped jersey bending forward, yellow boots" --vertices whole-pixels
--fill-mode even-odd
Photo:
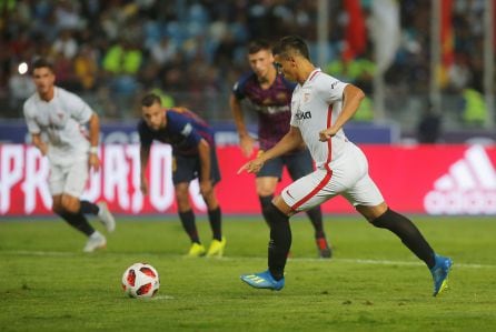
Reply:
[[[141,100],[142,119],[138,123],[140,138],[141,191],[148,193],[145,175],[153,140],[172,147],[172,183],[185,231],[191,240],[189,256],[221,256],[226,239],[221,232],[221,212],[215,185],[220,181],[214,132],[200,117],[185,108],[165,109],[160,98],[149,93]],[[201,244],[195,213],[189,202],[189,183],[198,178],[200,193],[208,209],[214,240],[206,251]]]

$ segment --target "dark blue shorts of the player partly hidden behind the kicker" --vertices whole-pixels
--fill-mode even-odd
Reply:
[[[270,177],[280,180],[285,165],[292,180],[302,178],[314,171],[314,161],[311,160],[310,152],[308,149],[302,149],[294,153],[270,159],[257,173],[257,178]]]

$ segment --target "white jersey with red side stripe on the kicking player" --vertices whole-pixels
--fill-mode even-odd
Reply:
[[[343,92],[347,83],[314,70],[305,83],[298,84],[291,98],[291,122],[298,127],[319,169],[333,163],[351,148],[343,129],[327,142],[319,141],[319,132],[336,122],[343,109]]]

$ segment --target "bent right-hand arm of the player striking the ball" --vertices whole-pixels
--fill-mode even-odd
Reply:
[[[336,119],[334,125],[319,132],[319,140],[325,142],[334,137],[339,129],[355,115],[364,98],[365,93],[361,89],[353,84],[346,85],[345,91],[343,92],[343,111]]]

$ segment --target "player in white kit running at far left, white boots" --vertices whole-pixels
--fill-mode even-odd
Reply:
[[[78,95],[54,85],[52,64],[46,59],[32,63],[37,92],[23,107],[32,143],[50,162],[49,188],[52,211],[88,237],[85,252],[107,245],[106,238],[96,231],[85,213],[98,215],[108,232],[116,228],[107,204],[80,201],[89,168],[99,170],[99,118]],[[83,124],[89,124],[89,138]],[[44,142],[44,135],[48,143]]]

